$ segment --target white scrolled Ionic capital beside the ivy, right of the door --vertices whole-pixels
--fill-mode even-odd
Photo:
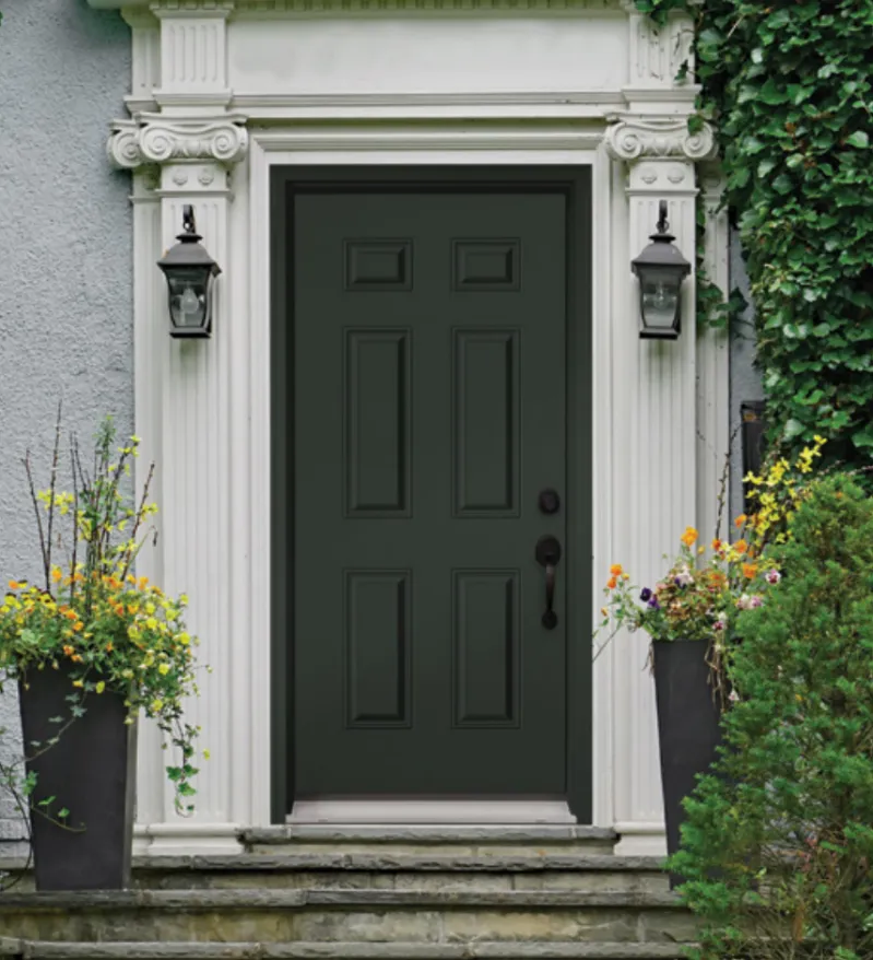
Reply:
[[[633,162],[644,157],[711,160],[716,155],[716,134],[704,122],[692,133],[688,118],[617,115],[606,118],[606,150],[614,160]]]

